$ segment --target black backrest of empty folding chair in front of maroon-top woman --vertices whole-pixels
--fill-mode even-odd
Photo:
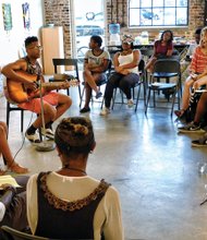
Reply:
[[[154,72],[178,73],[181,72],[180,62],[176,59],[158,59],[154,65]]]

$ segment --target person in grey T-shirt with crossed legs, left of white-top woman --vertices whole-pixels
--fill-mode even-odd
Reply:
[[[86,99],[84,108],[80,110],[81,113],[90,111],[89,101],[92,98],[92,89],[96,92],[96,98],[99,98],[102,95],[97,84],[106,80],[105,72],[108,69],[110,56],[108,51],[100,48],[101,44],[102,39],[100,36],[94,35],[90,37],[90,50],[85,55],[83,72],[86,87]]]

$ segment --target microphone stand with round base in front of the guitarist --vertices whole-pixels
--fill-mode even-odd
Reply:
[[[39,84],[39,96],[40,96],[40,107],[41,107],[41,123],[42,123],[42,130],[46,133],[46,123],[45,123],[45,116],[44,116],[44,99],[42,99],[42,86],[41,86],[41,80],[39,75],[37,76],[38,84]],[[44,134],[44,140],[39,144],[36,144],[36,151],[38,152],[50,152],[56,148],[54,143],[48,142],[46,140],[46,134]]]

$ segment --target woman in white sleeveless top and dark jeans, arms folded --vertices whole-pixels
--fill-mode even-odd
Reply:
[[[126,95],[127,106],[134,106],[131,88],[139,81],[138,63],[142,59],[139,50],[134,50],[133,38],[124,36],[122,39],[122,50],[117,52],[113,58],[115,72],[107,82],[105,91],[105,108],[100,115],[110,113],[110,104],[113,95],[113,89],[120,87]]]

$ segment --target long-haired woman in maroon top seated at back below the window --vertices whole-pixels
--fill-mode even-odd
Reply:
[[[173,34],[171,31],[165,31],[161,34],[161,38],[159,40],[156,40],[154,45],[154,55],[145,65],[145,69],[148,72],[154,71],[154,64],[157,59],[172,56],[173,52],[172,40],[173,40]]]

